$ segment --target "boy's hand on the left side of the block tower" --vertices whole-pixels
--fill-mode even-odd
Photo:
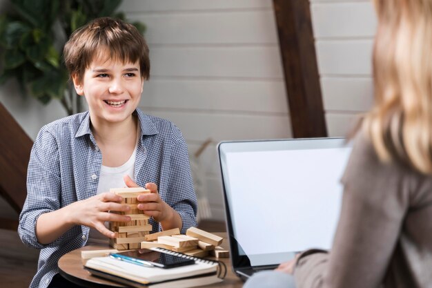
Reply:
[[[105,221],[129,222],[130,217],[108,211],[128,211],[130,207],[120,204],[121,196],[114,193],[101,193],[91,198],[70,204],[70,220],[78,225],[95,228],[109,238],[115,233],[105,227]]]

